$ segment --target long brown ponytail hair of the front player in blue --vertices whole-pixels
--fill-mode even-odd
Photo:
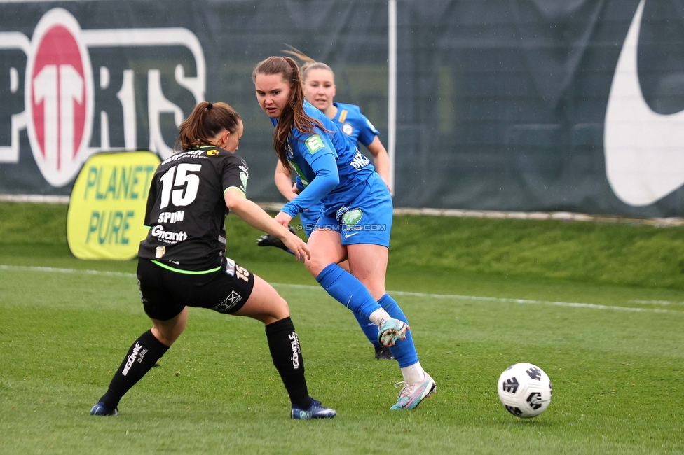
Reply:
[[[299,65],[290,57],[268,57],[257,64],[252,72],[252,82],[256,82],[257,74],[280,74],[282,79],[289,84],[290,95],[285,108],[282,109],[278,124],[273,132],[273,148],[278,160],[285,169],[292,169],[287,160],[287,138],[292,132],[292,127],[303,133],[315,134],[315,127],[327,131],[320,121],[308,116],[304,112],[304,87],[301,83]]]

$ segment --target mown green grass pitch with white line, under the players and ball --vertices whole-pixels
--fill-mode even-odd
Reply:
[[[233,248],[240,253],[235,258],[244,257],[242,264],[289,302],[310,393],[338,416],[289,419],[263,325],[201,309],[191,309],[182,337],[123,398],[118,416],[90,416],[128,346],[150,323],[139,303],[135,261],[72,258],[59,234],[61,210],[0,204],[1,454],[684,451],[684,292],[676,260],[669,281],[645,287],[620,283],[619,274],[616,282],[602,279],[606,274],[564,279],[431,268],[425,258],[411,266],[397,258],[388,288],[409,318],[437,394],[411,412],[394,412],[396,363],[374,360],[348,310],[291,257],[254,246],[257,233],[237,220],[233,234],[247,241]],[[483,222],[459,221],[457,228],[481,232]],[[397,244],[409,244],[397,224]],[[515,226],[509,232],[524,243],[523,225]],[[537,225],[530,226],[530,237],[538,238]],[[615,241],[622,230],[648,237],[643,241],[651,246],[671,232],[681,235],[631,228],[613,226]],[[596,242],[594,251],[603,248]],[[401,253],[393,250],[390,262]],[[627,257],[618,259],[631,267]],[[495,390],[505,367],[522,361],[542,367],[554,384],[549,409],[535,419],[508,414]]]

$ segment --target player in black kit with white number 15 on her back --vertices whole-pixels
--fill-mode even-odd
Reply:
[[[107,393],[90,414],[116,415],[118,402],[153,367],[185,329],[188,307],[247,316],[266,325],[273,364],[292,402],[293,419],[335,416],[308,395],[299,337],[287,302],[224,253],[228,211],[275,235],[298,259],[306,244],[245,197],[249,169],[234,155],[242,120],[225,103],[201,102],[179,128],[182,151],[157,168],[151,183],[137,268],[142,304],[152,329],[130,346]]]

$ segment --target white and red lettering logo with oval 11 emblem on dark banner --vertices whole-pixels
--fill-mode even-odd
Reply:
[[[202,101],[206,87],[205,58],[197,36],[188,29],[82,30],[71,13],[53,8],[39,20],[30,41],[17,31],[0,32],[0,50],[21,50],[27,57],[25,110],[11,115],[11,144],[0,146],[0,162],[19,162],[19,133],[23,129],[27,130],[41,174],[55,187],[74,179],[83,162],[102,149],[149,148],[162,159],[170,157],[173,150],[163,139],[160,116],[171,114],[179,126],[185,114],[165,97],[160,69],[151,68],[146,73],[147,119],[136,119],[135,71],[139,70],[123,70],[121,89],[116,93],[123,116],[123,147],[109,146],[107,112],[95,113],[94,69],[88,50],[157,46],[179,46],[191,52],[197,76],[186,77],[184,66],[178,62],[173,78],[193,94],[195,102]],[[98,71],[100,89],[107,89],[111,80],[109,68],[100,66]],[[11,93],[18,92],[18,80],[18,69],[11,68]],[[95,115],[100,116],[100,147],[91,148]],[[139,123],[149,125],[149,143],[138,144]]]

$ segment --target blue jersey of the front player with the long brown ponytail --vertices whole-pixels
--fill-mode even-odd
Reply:
[[[315,126],[313,134],[303,133],[292,127],[287,140],[287,158],[298,175],[303,191],[285,204],[282,211],[296,216],[300,211],[321,202],[331,207],[348,200],[361,190],[362,183],[375,170],[368,158],[322,111],[308,101],[304,111],[318,120],[324,130]],[[271,118],[273,125],[278,120]]]

